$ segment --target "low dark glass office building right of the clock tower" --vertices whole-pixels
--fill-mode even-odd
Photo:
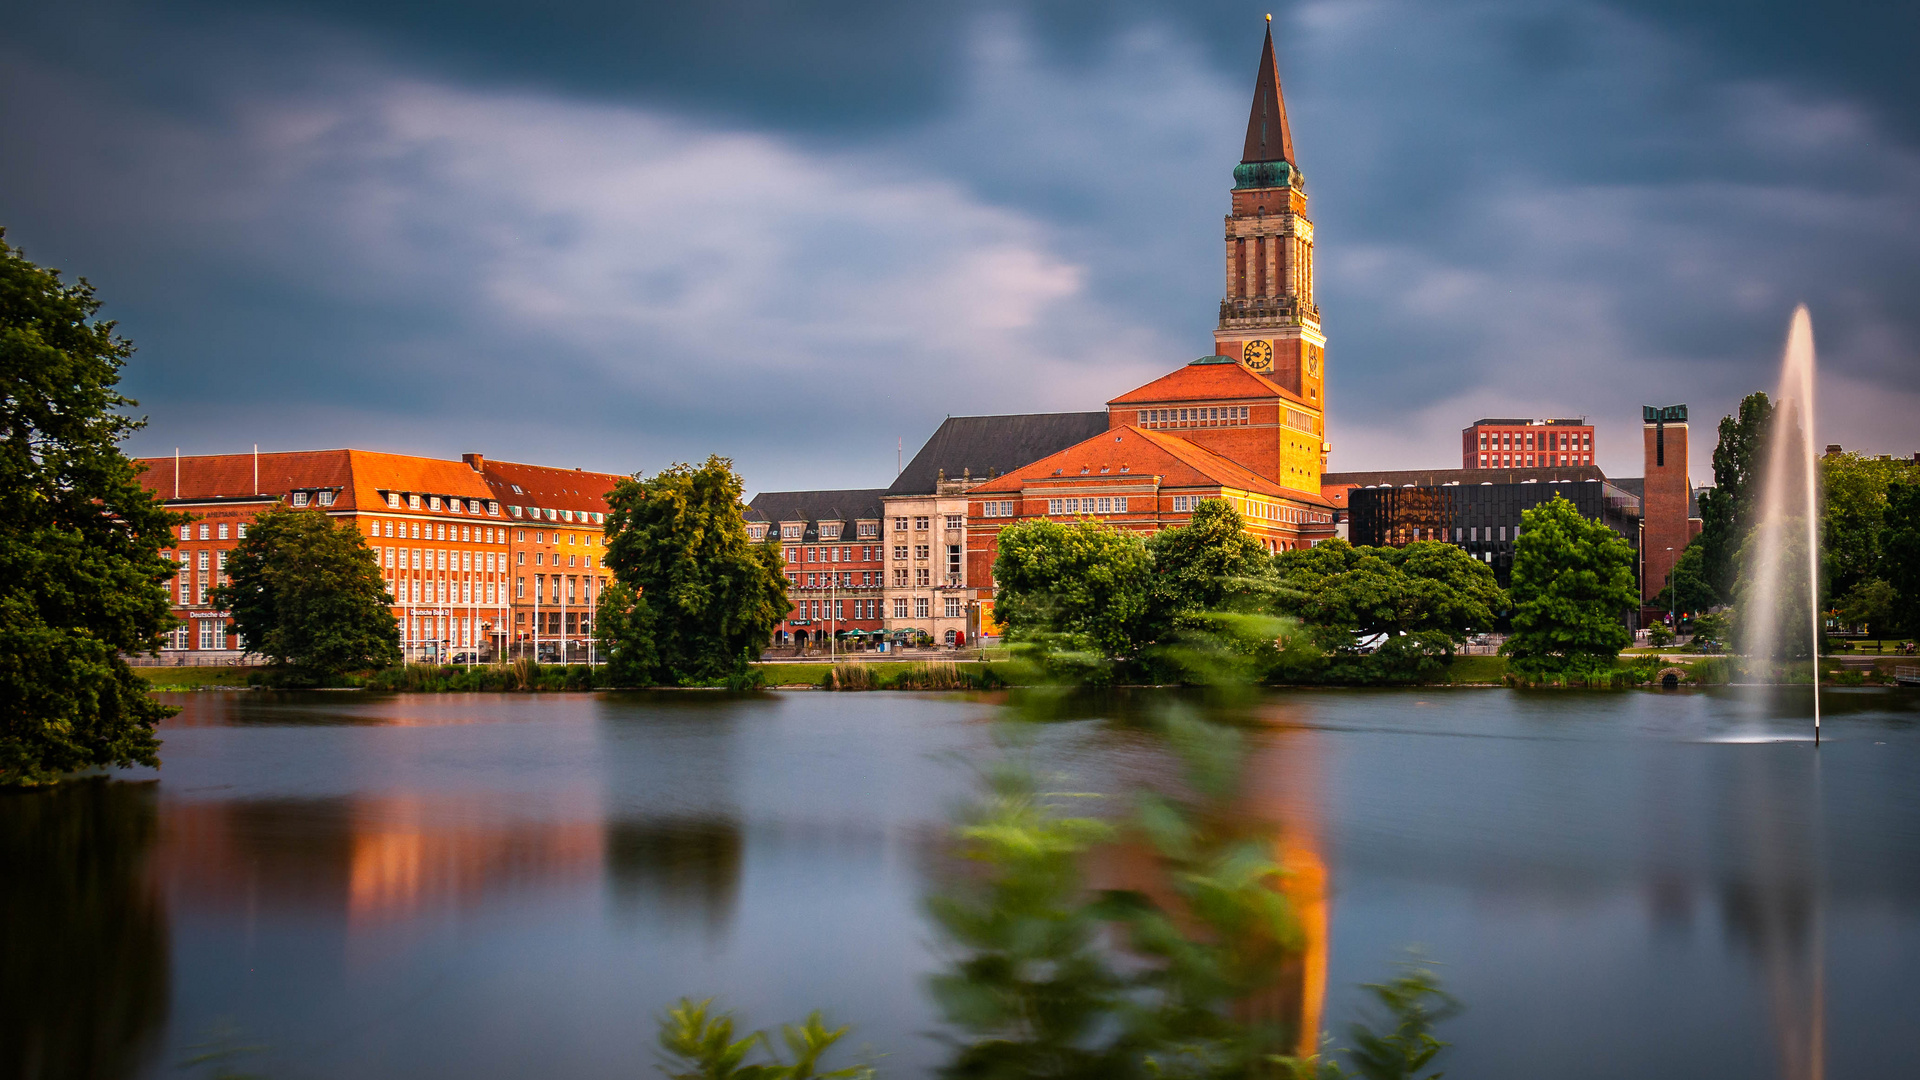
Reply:
[[[1500,584],[1507,586],[1521,513],[1553,496],[1565,496],[1584,517],[1607,523],[1638,552],[1640,498],[1607,480],[1354,488],[1348,492],[1348,538],[1375,548],[1446,540],[1490,565]],[[1640,565],[1638,557],[1634,565]]]

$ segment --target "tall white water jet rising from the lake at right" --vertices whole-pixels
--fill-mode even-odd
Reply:
[[[1766,475],[1759,521],[1741,548],[1741,642],[1747,661],[1799,655],[1799,626],[1811,634],[1812,726],[1820,738],[1820,471],[1814,459],[1814,348],[1807,306],[1793,309],[1780,359],[1780,388],[1766,432]],[[1805,592],[1801,592],[1805,580]],[[1805,607],[1801,601],[1805,600]]]

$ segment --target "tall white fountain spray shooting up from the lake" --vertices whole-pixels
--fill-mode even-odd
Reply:
[[[1766,482],[1761,490],[1761,519],[1753,538],[1753,586],[1741,598],[1747,655],[1770,659],[1788,626],[1782,600],[1788,573],[1788,525],[1793,509],[1807,521],[1807,651],[1812,663],[1812,742],[1820,744],[1820,463],[1814,455],[1812,315],[1801,304],[1788,327],[1788,346],[1780,359],[1780,390],[1772,430],[1766,436]],[[1805,490],[1793,490],[1795,465]],[[1797,503],[1797,507],[1795,507]]]

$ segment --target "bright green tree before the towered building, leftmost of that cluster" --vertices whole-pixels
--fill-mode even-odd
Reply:
[[[1152,555],[1137,532],[1087,519],[1035,519],[1000,530],[993,617],[1008,640],[1054,640],[1102,659],[1148,644]]]

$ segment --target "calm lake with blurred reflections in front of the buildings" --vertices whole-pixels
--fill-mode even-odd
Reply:
[[[169,700],[161,771],[0,798],[0,1068],[630,1078],[655,1017],[854,1024],[945,1057],[922,915],[998,753],[998,696],[780,692]],[[1916,1068],[1920,694],[1273,692],[1244,813],[1336,1036],[1419,947],[1465,1011],[1448,1076]],[[1031,755],[1079,792],[1165,771],[1116,694]],[[1225,709],[1225,707],[1221,707]]]

